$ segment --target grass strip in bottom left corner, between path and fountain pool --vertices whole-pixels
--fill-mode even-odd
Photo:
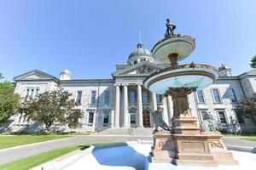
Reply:
[[[36,156],[29,156],[18,161],[12,161],[7,164],[0,166],[1,170],[26,170],[36,167],[46,161],[55,159],[56,157],[63,156],[73,150],[84,150],[90,145],[81,145],[81,146],[71,146],[66,148],[61,148],[57,150],[49,150],[47,152],[38,154]]]

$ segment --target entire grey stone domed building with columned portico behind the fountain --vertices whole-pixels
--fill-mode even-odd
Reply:
[[[161,100],[143,88],[143,80],[150,73],[169,65],[157,64],[154,57],[138,43],[130,54],[127,64],[116,65],[112,79],[72,79],[71,72],[61,71],[60,78],[44,71],[30,71],[15,77],[17,86],[15,93],[21,97],[36,96],[46,90],[60,86],[71,98],[81,103],[78,109],[84,112],[80,120],[83,127],[69,129],[58,127],[59,130],[77,132],[102,132],[111,129],[152,129],[154,123],[150,116],[157,107],[163,108],[163,120],[170,123],[172,119],[172,99]],[[193,116],[201,123],[207,111],[212,113],[220,126],[230,131],[255,131],[250,120],[245,119],[237,111],[237,102],[244,96],[256,94],[256,70],[248,71],[234,77],[227,65],[219,67],[218,80],[210,87],[189,95],[189,106]],[[27,122],[22,114],[13,117],[9,131],[35,132],[44,128],[39,122]]]

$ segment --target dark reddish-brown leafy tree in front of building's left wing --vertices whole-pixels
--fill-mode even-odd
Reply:
[[[69,96],[70,94],[64,94],[61,89],[57,89],[38,94],[34,99],[25,98],[20,105],[20,113],[27,120],[44,123],[48,132],[54,123],[72,128],[80,127],[79,119],[83,117],[83,113],[75,109],[80,104],[74,99],[68,99]]]

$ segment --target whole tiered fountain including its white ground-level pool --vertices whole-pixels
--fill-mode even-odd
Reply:
[[[171,65],[152,73],[145,79],[144,86],[156,94],[172,96],[174,116],[171,127],[163,122],[160,110],[154,111],[153,120],[157,126],[162,127],[160,131],[158,128],[154,130],[154,143],[138,140],[119,144],[93,144],[86,150],[75,151],[70,156],[34,167],[34,170],[241,170],[256,166],[255,154],[227,150],[221,140],[222,135],[215,132],[214,128],[201,132],[189,109],[188,94],[212,84],[218,77],[218,71],[211,65],[177,65],[177,61],[193,52],[195,39],[174,34],[176,26],[171,25],[170,20],[167,20],[166,26],[166,37],[154,45],[152,52],[160,62],[170,62]],[[239,159],[239,165],[234,157]]]

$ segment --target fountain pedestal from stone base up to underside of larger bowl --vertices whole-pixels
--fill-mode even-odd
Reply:
[[[202,133],[191,116],[188,94],[195,88],[170,88],[166,95],[173,100],[172,132],[154,133],[152,162],[177,165],[218,166],[219,163],[237,164],[224,146],[220,133]]]

